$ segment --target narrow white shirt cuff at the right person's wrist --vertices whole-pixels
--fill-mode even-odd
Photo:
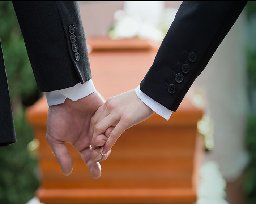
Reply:
[[[135,89],[135,92],[137,97],[141,99],[141,101],[144,102],[148,107],[150,107],[154,112],[156,112],[158,115],[162,116],[166,120],[170,119],[172,111],[166,108],[165,106],[163,106],[162,104],[156,102],[145,93],[143,93],[140,90],[140,86],[138,86]]]

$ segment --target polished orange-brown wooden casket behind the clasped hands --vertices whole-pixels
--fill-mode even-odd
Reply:
[[[136,88],[154,61],[158,44],[147,40],[91,39],[88,41],[93,82],[108,97]],[[48,106],[45,97],[27,108],[38,148],[40,187],[45,204],[196,202],[202,144],[197,121],[202,109],[185,97],[169,121],[154,114],[126,130],[101,162],[102,176],[94,179],[80,155],[67,144],[73,158],[71,175],[64,176],[46,141]],[[138,112],[138,114],[140,114]]]

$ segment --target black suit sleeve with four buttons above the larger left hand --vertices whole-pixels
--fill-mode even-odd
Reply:
[[[91,79],[76,1],[13,1],[13,6],[38,90],[64,89]]]

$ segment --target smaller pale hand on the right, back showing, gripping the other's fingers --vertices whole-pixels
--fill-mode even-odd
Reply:
[[[154,111],[137,97],[134,89],[108,98],[91,118],[90,138],[93,160],[105,160],[106,154],[109,154],[112,146],[126,129],[148,119],[153,114]]]

